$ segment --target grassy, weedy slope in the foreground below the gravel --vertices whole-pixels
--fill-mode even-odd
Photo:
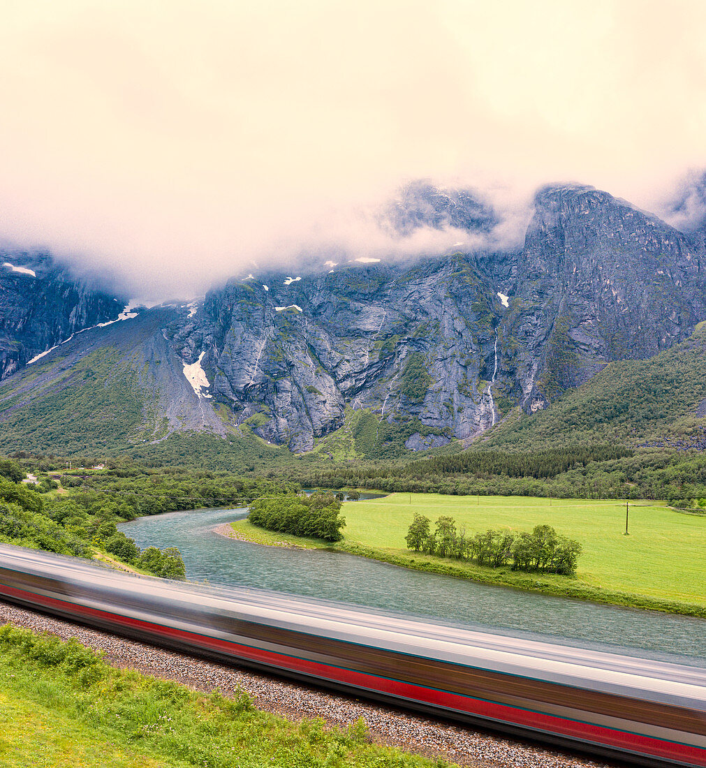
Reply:
[[[0,765],[57,768],[433,768],[368,743],[362,721],[327,730],[114,669],[78,641],[0,628]]]

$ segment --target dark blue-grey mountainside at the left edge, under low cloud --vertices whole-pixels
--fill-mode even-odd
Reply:
[[[123,309],[124,302],[75,280],[46,253],[2,251],[0,265],[0,379]]]

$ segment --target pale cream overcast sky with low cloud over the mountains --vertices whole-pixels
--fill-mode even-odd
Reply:
[[[0,237],[107,264],[144,297],[303,247],[383,254],[360,212],[416,177],[483,190],[512,240],[539,184],[655,210],[706,167],[701,0],[0,12]]]

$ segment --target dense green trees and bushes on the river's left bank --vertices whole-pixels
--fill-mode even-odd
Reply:
[[[25,485],[20,482],[25,467],[18,462],[48,474],[37,486]],[[0,460],[0,541],[76,557],[108,553],[138,570],[167,578],[184,576],[179,551],[155,547],[141,551],[120,531],[121,522],[180,509],[242,506],[254,498],[298,489],[270,479],[149,468],[125,460],[97,472],[51,469],[61,463],[22,452]]]

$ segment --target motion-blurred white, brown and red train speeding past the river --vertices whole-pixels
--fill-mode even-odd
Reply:
[[[187,654],[648,766],[706,766],[706,670],[0,545],[0,598]]]

